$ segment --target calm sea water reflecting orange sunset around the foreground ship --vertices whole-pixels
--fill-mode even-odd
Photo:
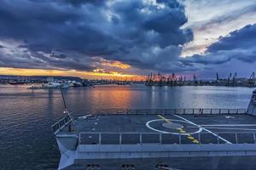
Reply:
[[[64,90],[76,114],[104,108],[247,108],[253,88],[99,86]],[[0,86],[0,169],[56,169],[51,124],[63,116],[59,89]]]

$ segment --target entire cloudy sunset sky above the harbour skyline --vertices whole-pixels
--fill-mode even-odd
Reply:
[[[0,74],[256,71],[255,0],[2,0]]]

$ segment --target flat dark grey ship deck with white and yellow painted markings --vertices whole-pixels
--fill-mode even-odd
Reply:
[[[80,144],[254,144],[256,116],[96,115],[80,117],[56,135],[75,134]]]

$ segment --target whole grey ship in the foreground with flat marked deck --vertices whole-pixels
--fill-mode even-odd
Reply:
[[[52,126],[58,169],[256,168],[256,90],[247,109],[106,110],[74,118],[66,108],[64,114]]]

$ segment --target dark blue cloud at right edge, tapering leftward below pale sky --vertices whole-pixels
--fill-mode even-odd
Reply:
[[[221,65],[238,59],[242,62],[256,61],[256,24],[230,32],[227,37],[220,37],[212,43],[206,54],[179,59],[184,65]]]

